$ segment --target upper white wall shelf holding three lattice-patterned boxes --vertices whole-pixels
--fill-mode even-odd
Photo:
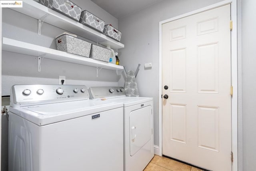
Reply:
[[[108,36],[105,36],[96,30],[93,30],[92,28],[84,26],[75,20],[72,20],[54,10],[51,10],[50,8],[47,8],[46,6],[43,6],[34,0],[23,0],[22,3],[23,8],[11,9],[36,19],[40,19],[48,14],[48,16],[44,19],[44,22],[48,24],[62,28],[68,32],[82,36],[94,42],[98,42],[105,46],[110,45],[112,49],[124,48],[124,44],[121,44],[120,42],[117,42],[116,40],[113,40],[112,38],[109,38]]]

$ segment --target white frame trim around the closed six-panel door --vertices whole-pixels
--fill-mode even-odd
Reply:
[[[233,96],[231,98],[231,125],[232,125],[232,171],[238,170],[238,55],[237,55],[237,0],[224,0],[180,16],[176,16],[159,22],[159,155],[162,156],[162,24],[178,20],[187,16],[212,10],[220,6],[231,4],[231,20],[233,28],[231,31],[231,84]],[[231,154],[230,154],[231,155]]]

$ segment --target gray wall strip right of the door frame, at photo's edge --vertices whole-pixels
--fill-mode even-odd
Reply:
[[[243,170],[256,168],[256,1],[242,0]]]

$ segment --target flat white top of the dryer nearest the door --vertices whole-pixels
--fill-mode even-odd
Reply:
[[[107,101],[112,101],[112,102],[118,102],[118,103],[124,103],[124,107],[136,105],[139,103],[145,103],[147,101],[152,101],[152,97],[117,97],[117,98],[112,98],[112,99],[107,99]]]

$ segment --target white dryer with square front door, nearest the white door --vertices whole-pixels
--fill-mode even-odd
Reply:
[[[124,104],[124,170],[143,171],[154,157],[153,98],[126,97],[123,87],[90,87],[90,95]]]

